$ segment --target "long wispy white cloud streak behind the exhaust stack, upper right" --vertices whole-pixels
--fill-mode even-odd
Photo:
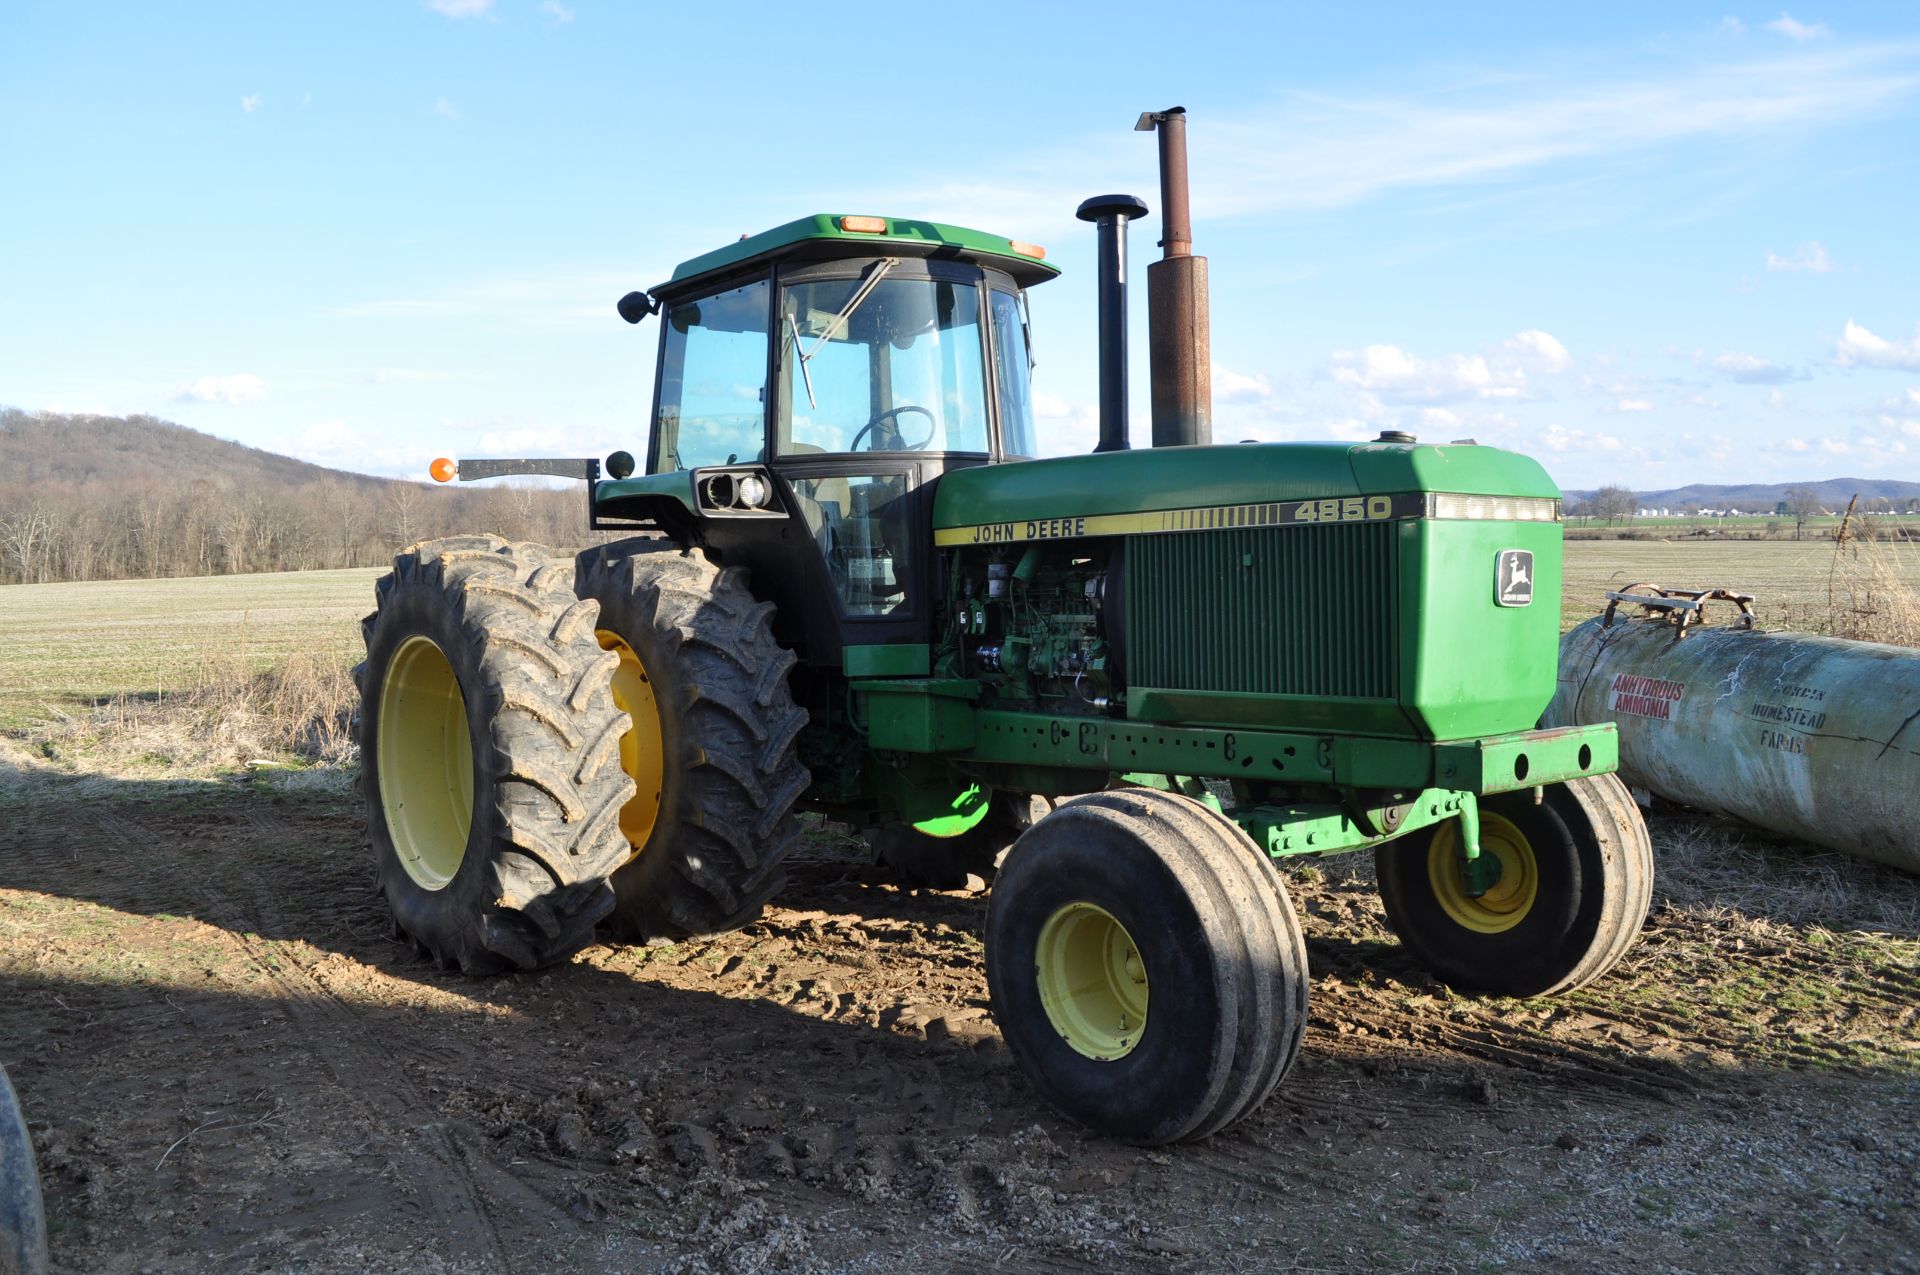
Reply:
[[[1292,92],[1208,115],[1188,138],[1194,209],[1206,219],[1338,209],[1402,190],[1519,182],[1571,159],[1697,142],[1805,136],[1860,127],[1920,92],[1910,42],[1818,46],[1768,58],[1665,63],[1632,77],[1482,75],[1469,84],[1375,96]],[[1116,171],[1139,171],[1139,142],[1087,134],[996,165],[996,180],[931,167],[833,202],[939,207],[962,225],[1079,234],[1071,209]]]

